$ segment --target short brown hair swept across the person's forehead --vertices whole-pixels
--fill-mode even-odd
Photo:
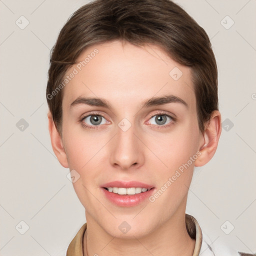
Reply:
[[[171,0],[95,0],[68,18],[51,50],[46,98],[60,135],[63,92],[52,92],[82,51],[111,40],[155,44],[191,67],[198,125],[204,130],[212,111],[218,110],[217,65],[204,29]]]

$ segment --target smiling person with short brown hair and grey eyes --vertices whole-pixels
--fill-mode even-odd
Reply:
[[[86,223],[66,255],[249,255],[185,212],[221,133],[206,32],[170,0],[94,0],[61,29],[46,98],[51,145]]]

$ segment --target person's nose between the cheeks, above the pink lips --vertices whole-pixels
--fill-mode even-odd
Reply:
[[[134,125],[131,125],[126,131],[117,126],[116,135],[111,139],[110,144],[110,163],[114,167],[128,170],[138,168],[143,164],[143,143],[138,138],[139,134],[135,135],[134,133],[137,133]]]

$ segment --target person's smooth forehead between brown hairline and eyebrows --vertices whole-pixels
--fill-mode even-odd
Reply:
[[[101,97],[113,105],[128,106],[172,94],[189,106],[195,103],[190,68],[153,44],[138,47],[119,40],[94,44],[80,54],[66,75],[69,81],[63,88],[63,107],[69,107],[79,96]]]

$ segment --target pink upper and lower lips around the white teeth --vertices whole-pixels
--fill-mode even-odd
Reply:
[[[104,187],[144,187],[150,190],[147,190],[145,192],[141,192],[138,194],[125,194],[120,195],[117,193],[109,192]],[[131,207],[138,205],[142,201],[144,201],[146,198],[148,198],[154,191],[154,187],[149,184],[145,184],[138,181],[112,181],[107,182],[102,185],[101,187],[102,192],[106,196],[108,200],[110,200],[112,203],[123,206],[123,207]]]

